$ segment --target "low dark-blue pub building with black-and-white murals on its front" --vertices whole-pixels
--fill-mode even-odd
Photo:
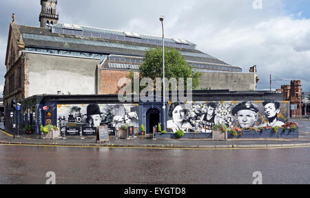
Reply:
[[[127,100],[120,102],[118,95],[37,95],[21,100],[21,110],[15,110],[16,116],[12,119],[17,123],[19,134],[26,134],[25,126],[28,125],[32,126],[30,134],[41,135],[40,126],[52,124],[60,129],[62,137],[96,135],[97,126],[108,126],[110,135],[115,135],[124,125],[132,126],[136,135],[141,135],[143,125],[143,135],[148,135],[153,133],[153,126],[160,124],[162,131],[174,133],[182,129],[185,133],[196,132],[211,137],[211,131],[201,125],[208,113],[213,125],[240,127],[238,122],[241,121],[231,113],[237,105],[248,111],[255,107],[259,116],[249,121],[251,126],[267,122],[264,101],[280,104],[277,118],[280,121],[285,122],[289,117],[289,101],[283,101],[282,94],[269,91],[192,91],[191,95],[185,96],[190,100],[185,101],[180,101],[171,92],[166,96],[169,97],[165,98],[163,110],[163,98],[157,96],[145,96],[133,102],[135,97],[127,95]],[[172,101],[175,98],[178,102]]]

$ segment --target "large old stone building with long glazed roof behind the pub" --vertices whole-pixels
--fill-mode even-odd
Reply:
[[[130,71],[138,74],[145,50],[162,45],[161,36],[59,23],[56,5],[56,0],[41,0],[40,28],[19,25],[12,16],[3,89],[6,116],[12,100],[39,94],[115,94],[121,78]],[[165,38],[165,46],[176,48],[194,72],[203,73],[198,89],[256,89],[256,69],[244,73],[183,39]]]

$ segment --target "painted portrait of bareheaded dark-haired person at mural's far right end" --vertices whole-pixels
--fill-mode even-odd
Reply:
[[[282,126],[285,124],[278,120],[278,113],[280,113],[280,102],[266,100],[262,102],[264,105],[265,113],[267,115],[267,122],[264,124],[260,124],[260,126]]]

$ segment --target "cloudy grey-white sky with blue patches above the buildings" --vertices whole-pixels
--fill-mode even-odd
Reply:
[[[255,2],[254,2],[255,1]],[[59,23],[161,36],[196,43],[198,50],[240,66],[257,65],[258,89],[275,80],[300,79],[310,89],[309,0],[59,0]],[[261,8],[261,9],[260,9]],[[2,93],[9,23],[39,27],[39,0],[0,1],[0,91]],[[289,81],[273,81],[278,89]]]

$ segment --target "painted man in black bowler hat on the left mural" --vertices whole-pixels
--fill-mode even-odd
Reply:
[[[89,104],[87,106],[87,126],[88,127],[97,127],[101,123],[101,112],[98,104]]]

